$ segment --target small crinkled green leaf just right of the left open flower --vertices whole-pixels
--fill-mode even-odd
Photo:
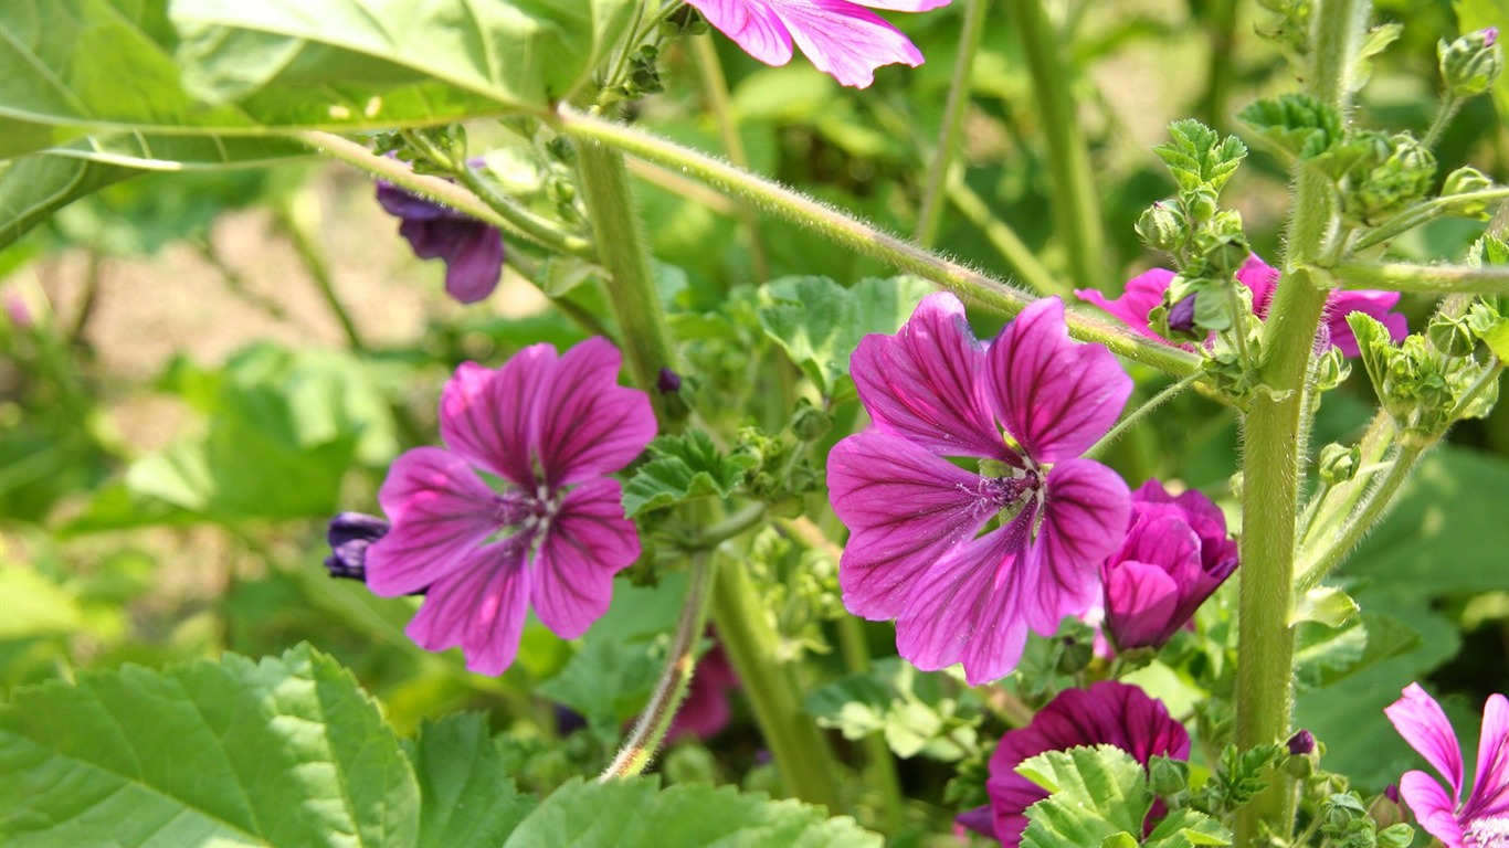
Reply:
[[[702,430],[661,436],[649,444],[656,459],[634,471],[623,486],[629,518],[691,498],[727,498],[744,481],[744,466],[723,454]]]

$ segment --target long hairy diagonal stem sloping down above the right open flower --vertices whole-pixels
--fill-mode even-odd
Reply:
[[[697,151],[682,148],[623,124],[573,112],[567,107],[563,107],[558,116],[560,130],[581,142],[584,148],[593,143],[613,145],[635,158],[653,161],[687,174],[726,195],[748,199],[765,211],[809,226],[857,253],[877,258],[902,272],[933,281],[940,288],[954,291],[984,308],[1005,315],[1016,315],[1034,300],[1031,294],[1016,290],[999,279],[951,263],[895,235],[881,232],[865,222],[848,217],[833,207]],[[1200,358],[1194,353],[1138,336],[1117,321],[1091,314],[1088,309],[1070,312],[1065,320],[1068,321],[1068,332],[1076,338],[1105,344],[1112,353],[1176,377],[1188,376],[1200,368]]]

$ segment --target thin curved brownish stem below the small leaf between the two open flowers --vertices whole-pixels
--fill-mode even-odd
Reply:
[[[708,561],[709,554],[699,551],[691,557],[691,582],[687,587],[687,605],[681,608],[681,619],[676,622],[676,632],[672,637],[670,652],[665,656],[665,668],[650,700],[644,705],[644,712],[634,723],[634,730],[623,741],[619,756],[613,757],[608,768],[598,780],[614,777],[632,777],[644,771],[655,759],[665,733],[676,720],[676,711],[687,700],[687,690],[691,676],[697,668],[697,641],[708,626],[708,610],[712,604],[712,584],[717,581],[717,570]]]

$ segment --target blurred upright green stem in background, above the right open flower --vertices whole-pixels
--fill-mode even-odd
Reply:
[[[1100,223],[1089,146],[1070,91],[1074,74],[1064,54],[1062,33],[1049,20],[1043,0],[1011,0],[1007,11],[1011,14],[1013,29],[1022,33],[1032,75],[1032,103],[1038,110],[1053,181],[1053,225],[1064,238],[1068,275],[1079,288],[1105,288],[1109,282],[1106,235]]]

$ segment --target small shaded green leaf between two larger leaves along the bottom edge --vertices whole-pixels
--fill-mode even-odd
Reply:
[[[407,747],[420,779],[418,848],[495,848],[536,806],[513,786],[480,712],[426,721]]]

